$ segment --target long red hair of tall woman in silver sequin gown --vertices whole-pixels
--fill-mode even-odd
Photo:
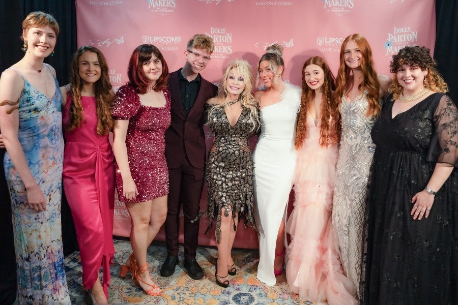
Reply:
[[[367,113],[366,116],[375,117],[377,116],[382,108],[380,107],[380,83],[377,78],[377,72],[374,68],[374,60],[372,58],[372,50],[370,49],[369,43],[367,40],[359,35],[352,34],[348,36],[342,43],[340,48],[340,66],[336,78],[336,89],[334,92],[334,99],[338,101],[338,104],[341,103],[341,98],[344,94],[347,94],[352,83],[349,81],[351,68],[345,64],[344,53],[347,43],[353,40],[361,51],[361,70],[363,74],[363,80],[359,84],[358,89],[363,91],[367,90]]]

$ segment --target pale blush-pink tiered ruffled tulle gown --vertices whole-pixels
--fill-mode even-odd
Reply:
[[[344,275],[331,223],[337,145],[322,147],[319,139],[320,120],[308,115],[307,135],[297,151],[294,209],[286,224],[292,237],[288,285],[304,300],[356,305],[356,287]]]

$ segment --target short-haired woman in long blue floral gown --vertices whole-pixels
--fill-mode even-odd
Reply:
[[[43,12],[22,22],[24,57],[0,78],[0,128],[7,149],[18,304],[70,304],[61,237],[64,141],[53,52],[59,25]]]

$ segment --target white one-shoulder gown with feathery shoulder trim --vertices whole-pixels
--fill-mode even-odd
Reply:
[[[275,243],[293,186],[300,99],[301,89],[285,83],[280,101],[260,111],[261,135],[253,153],[256,224],[260,233],[257,279],[268,286],[276,283]]]

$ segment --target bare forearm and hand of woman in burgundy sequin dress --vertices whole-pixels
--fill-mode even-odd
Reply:
[[[128,199],[135,199],[135,196],[138,195],[138,190],[130,172],[127,156],[126,137],[128,127],[128,119],[115,120],[115,127],[113,128],[113,153],[115,154],[116,162],[123,178],[123,195]]]

